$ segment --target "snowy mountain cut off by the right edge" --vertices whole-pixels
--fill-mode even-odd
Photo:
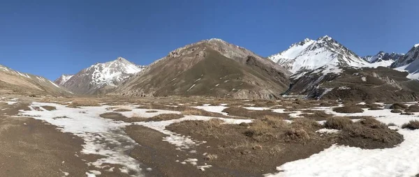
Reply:
[[[396,70],[407,71],[410,79],[419,79],[419,44],[414,45],[401,59],[390,66]]]

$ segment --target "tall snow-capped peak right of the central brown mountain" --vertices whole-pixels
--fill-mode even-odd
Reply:
[[[334,70],[339,66],[369,66],[368,62],[330,36],[323,36],[317,40],[304,39],[291,45],[284,52],[269,56],[268,59],[288,68],[294,74],[323,66],[326,70]]]

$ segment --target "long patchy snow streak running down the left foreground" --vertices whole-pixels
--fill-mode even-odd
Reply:
[[[56,110],[47,111],[41,106],[56,107]],[[42,111],[35,110],[34,107],[40,107]],[[20,116],[31,116],[57,125],[61,132],[71,132],[84,140],[85,144],[82,145],[81,153],[104,156],[96,162],[89,162],[88,164],[99,168],[107,163],[120,164],[126,170],[140,175],[140,162],[125,153],[136,144],[122,131],[122,128],[129,123],[101,118],[100,114],[110,112],[106,110],[108,107],[70,108],[54,103],[32,102],[31,110],[20,110]]]

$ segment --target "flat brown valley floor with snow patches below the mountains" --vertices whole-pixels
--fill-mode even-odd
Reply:
[[[415,176],[419,130],[402,126],[418,119],[416,108],[7,95],[0,176]]]

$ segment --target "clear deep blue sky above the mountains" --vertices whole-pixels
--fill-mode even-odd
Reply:
[[[269,56],[329,35],[364,56],[419,43],[418,0],[1,1],[0,64],[49,79],[117,56],[141,65],[221,38]]]

